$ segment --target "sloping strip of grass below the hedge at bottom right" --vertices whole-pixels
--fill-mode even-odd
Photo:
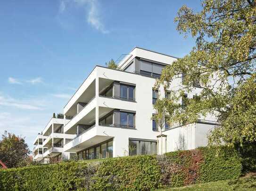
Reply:
[[[194,184],[181,188],[166,188],[159,191],[256,191],[256,174],[249,174],[235,180]]]

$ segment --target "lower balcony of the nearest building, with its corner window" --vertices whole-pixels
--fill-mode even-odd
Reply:
[[[77,126],[70,128],[77,136],[64,145],[64,152],[78,152],[91,145],[99,144],[113,138],[116,133],[126,133],[127,130],[135,129],[135,112],[120,110],[111,107],[99,107],[99,125],[95,124],[98,119],[93,112],[79,121]],[[106,130],[106,131],[105,131]],[[106,132],[111,132],[106,134]]]

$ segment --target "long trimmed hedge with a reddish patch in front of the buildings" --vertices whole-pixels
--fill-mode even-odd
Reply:
[[[193,183],[235,179],[241,159],[232,149],[201,147],[164,155],[120,157],[96,162],[59,164],[0,170],[3,191],[112,191],[152,190]]]

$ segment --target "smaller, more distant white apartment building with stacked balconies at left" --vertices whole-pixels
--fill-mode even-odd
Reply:
[[[69,160],[76,153],[64,152],[66,143],[73,140],[76,135],[65,134],[63,130],[64,121],[67,119],[51,118],[41,134],[34,140],[33,160],[41,163],[58,162]]]

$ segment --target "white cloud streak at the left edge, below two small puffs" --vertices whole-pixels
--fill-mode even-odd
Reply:
[[[29,109],[29,110],[42,110],[42,107],[32,105],[29,103],[29,101],[24,102],[17,99],[13,99],[11,97],[4,97],[2,95],[0,95],[0,106],[16,107],[19,109]]]

